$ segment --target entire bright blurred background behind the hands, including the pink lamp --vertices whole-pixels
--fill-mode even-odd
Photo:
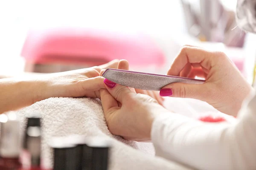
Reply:
[[[254,77],[256,37],[236,27],[236,0],[0,2],[0,75],[50,73],[127,59],[166,74],[183,45],[224,51]]]

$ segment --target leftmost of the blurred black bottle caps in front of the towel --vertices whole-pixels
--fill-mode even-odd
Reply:
[[[49,146],[54,150],[53,170],[81,170],[79,152],[75,144],[67,142],[64,137],[55,137]]]

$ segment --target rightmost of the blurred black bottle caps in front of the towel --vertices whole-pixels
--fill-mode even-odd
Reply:
[[[83,147],[84,164],[82,170],[108,170],[111,143],[101,137],[87,139]]]

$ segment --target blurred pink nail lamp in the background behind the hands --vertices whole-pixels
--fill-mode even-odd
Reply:
[[[160,68],[163,52],[142,34],[118,34],[84,28],[32,30],[23,45],[21,56],[26,71],[31,65],[101,65],[113,59],[127,59],[131,66]],[[49,71],[46,71],[49,72]]]

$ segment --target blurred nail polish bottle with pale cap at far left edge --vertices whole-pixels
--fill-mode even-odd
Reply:
[[[20,170],[20,122],[16,113],[0,115],[0,170]]]

